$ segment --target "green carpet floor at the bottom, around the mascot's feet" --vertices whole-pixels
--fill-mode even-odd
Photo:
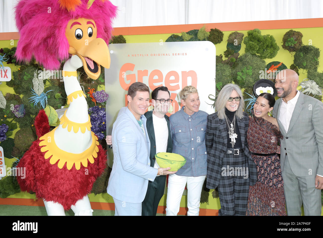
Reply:
[[[70,209],[65,211],[66,216],[74,216]],[[0,216],[47,216],[45,207],[37,206],[17,206],[17,205],[0,205]],[[93,216],[114,216],[114,211],[93,210]],[[157,214],[165,216],[165,214]]]

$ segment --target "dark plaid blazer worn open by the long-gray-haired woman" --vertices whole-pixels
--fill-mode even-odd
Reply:
[[[257,170],[247,145],[247,130],[249,117],[244,112],[242,119],[237,118],[241,135],[241,144],[248,158],[250,185],[257,181]],[[217,113],[207,116],[205,145],[207,151],[207,175],[206,187],[214,189],[218,187],[221,178],[221,164],[227,151],[227,131],[225,119],[219,119]]]

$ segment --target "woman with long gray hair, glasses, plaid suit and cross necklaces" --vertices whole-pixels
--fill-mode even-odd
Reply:
[[[215,102],[216,112],[207,116],[206,187],[218,188],[220,215],[244,216],[249,185],[256,182],[256,167],[247,146],[248,115],[238,85],[227,84]]]

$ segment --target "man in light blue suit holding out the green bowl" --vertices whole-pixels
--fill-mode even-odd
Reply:
[[[107,188],[116,216],[141,216],[148,180],[170,168],[150,166],[150,141],[143,115],[149,106],[149,88],[136,82],[128,90],[128,106],[121,108],[112,129],[113,166]]]

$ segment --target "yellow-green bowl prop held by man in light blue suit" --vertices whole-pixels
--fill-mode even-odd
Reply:
[[[171,167],[169,171],[177,171],[186,163],[185,157],[175,153],[160,152],[155,154],[155,158],[159,167]]]

